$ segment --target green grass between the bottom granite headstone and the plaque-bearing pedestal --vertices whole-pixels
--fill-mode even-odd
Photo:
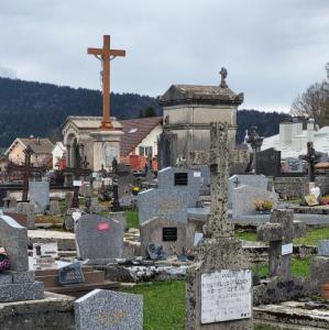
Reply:
[[[145,330],[185,329],[185,282],[154,282],[123,290],[143,295]]]

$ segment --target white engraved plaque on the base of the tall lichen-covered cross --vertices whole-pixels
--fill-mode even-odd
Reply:
[[[250,270],[201,274],[201,323],[251,318]]]

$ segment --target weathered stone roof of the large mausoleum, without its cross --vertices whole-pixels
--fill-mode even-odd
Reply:
[[[243,92],[237,95],[230,88],[201,85],[172,85],[169,89],[158,97],[161,106],[175,106],[184,103],[210,105],[241,105]]]

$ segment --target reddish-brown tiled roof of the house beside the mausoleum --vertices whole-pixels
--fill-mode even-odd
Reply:
[[[128,156],[146,135],[162,122],[162,117],[150,117],[141,119],[121,120],[122,131],[125,133],[121,138],[121,156]]]

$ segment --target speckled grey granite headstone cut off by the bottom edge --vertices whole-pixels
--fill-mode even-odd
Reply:
[[[143,297],[95,289],[74,302],[77,330],[142,330]]]

